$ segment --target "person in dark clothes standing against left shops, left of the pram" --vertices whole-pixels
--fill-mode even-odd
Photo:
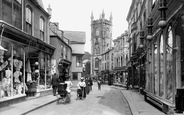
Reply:
[[[51,85],[53,89],[53,95],[56,96],[57,85],[58,85],[58,75],[56,73],[54,73],[52,76]]]

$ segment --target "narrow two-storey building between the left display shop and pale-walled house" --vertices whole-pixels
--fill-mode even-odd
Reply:
[[[65,80],[65,76],[71,76],[72,48],[69,39],[64,37],[59,30],[59,23],[50,22],[50,43],[56,47],[52,56],[52,74],[57,73]]]

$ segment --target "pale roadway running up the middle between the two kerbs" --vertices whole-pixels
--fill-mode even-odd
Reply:
[[[120,90],[103,85],[93,90],[84,100],[76,100],[76,91],[72,91],[71,103],[51,103],[27,115],[132,115],[128,103]]]

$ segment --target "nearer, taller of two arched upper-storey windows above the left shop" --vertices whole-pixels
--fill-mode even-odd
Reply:
[[[32,10],[29,6],[26,7],[26,32],[32,35]]]

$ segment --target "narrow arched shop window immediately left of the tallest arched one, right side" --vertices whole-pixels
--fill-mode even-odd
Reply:
[[[159,83],[159,96],[164,95],[164,40],[163,35],[160,36],[160,83]]]

